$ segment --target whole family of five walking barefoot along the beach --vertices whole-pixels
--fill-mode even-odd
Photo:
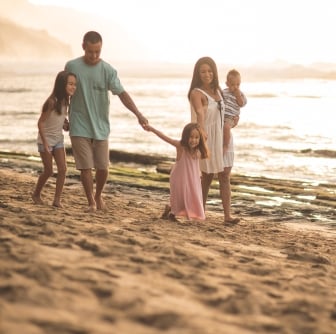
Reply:
[[[217,65],[210,57],[198,59],[194,66],[188,99],[191,121],[180,139],[166,136],[152,126],[138,110],[123,87],[116,69],[101,59],[103,40],[96,31],[84,35],[84,55],[65,64],[55,79],[54,88],[42,106],[38,120],[37,146],[43,163],[32,199],[43,204],[41,192],[57,166],[55,207],[62,207],[66,178],[66,153],[63,131],[69,131],[76,169],[88,201],[88,212],[105,210],[102,193],[109,168],[109,92],[138,119],[140,126],[176,148],[176,161],[170,173],[170,203],[162,218],[204,220],[211,183],[216,175],[223,204],[224,222],[236,224],[231,215],[230,174],[234,161],[231,129],[238,124],[240,108],[247,103],[240,90],[237,70],[226,75],[226,88],[220,87]],[[93,175],[95,172],[95,175]]]

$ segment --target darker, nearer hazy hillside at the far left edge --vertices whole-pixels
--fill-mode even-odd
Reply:
[[[50,36],[47,31],[26,28],[0,18],[0,58],[51,60],[71,56],[70,45]]]

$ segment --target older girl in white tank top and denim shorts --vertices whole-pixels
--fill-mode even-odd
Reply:
[[[76,76],[67,71],[57,74],[51,95],[42,106],[39,117],[37,146],[43,163],[32,199],[35,204],[43,204],[41,191],[48,178],[53,175],[53,158],[57,165],[56,190],[53,205],[62,207],[61,194],[66,174],[63,129],[68,131],[67,119],[70,97],[76,90]]]

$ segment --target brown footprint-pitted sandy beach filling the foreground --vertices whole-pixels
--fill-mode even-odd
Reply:
[[[113,175],[108,211],[87,214],[71,171],[63,209],[54,178],[34,205],[36,165],[0,167],[1,334],[336,333],[332,226],[251,202],[235,226],[211,206],[204,222],[170,222],[167,188]]]

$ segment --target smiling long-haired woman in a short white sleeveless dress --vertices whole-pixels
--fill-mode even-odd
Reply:
[[[230,174],[233,166],[233,140],[224,155],[223,126],[224,101],[219,87],[216,63],[210,57],[200,58],[188,93],[192,121],[196,121],[204,131],[210,151],[210,158],[200,165],[202,172],[202,194],[205,207],[213,177],[218,175],[220,196],[224,210],[224,222],[237,224],[240,219],[231,216]],[[238,122],[238,119],[237,119]]]

